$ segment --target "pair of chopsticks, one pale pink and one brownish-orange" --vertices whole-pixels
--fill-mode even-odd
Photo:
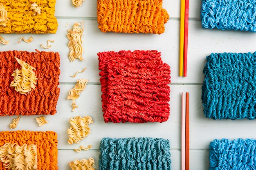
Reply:
[[[182,92],[181,112],[181,170],[189,170],[189,93]]]

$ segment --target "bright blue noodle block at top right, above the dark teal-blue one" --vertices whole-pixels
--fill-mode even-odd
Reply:
[[[256,0],[202,0],[202,27],[256,32]]]

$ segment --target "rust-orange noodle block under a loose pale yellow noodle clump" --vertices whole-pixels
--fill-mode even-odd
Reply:
[[[17,57],[34,67],[35,89],[26,95],[10,87],[13,71],[20,70]],[[2,51],[0,52],[0,116],[54,115],[60,93],[60,56],[54,52]]]

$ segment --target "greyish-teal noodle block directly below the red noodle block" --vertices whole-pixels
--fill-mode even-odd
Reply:
[[[162,138],[103,138],[99,170],[171,170],[169,140]]]

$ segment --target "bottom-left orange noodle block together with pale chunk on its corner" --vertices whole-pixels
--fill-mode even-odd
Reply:
[[[4,148],[9,148],[5,150],[9,154],[4,154],[6,157],[0,158],[0,170],[58,170],[57,145],[57,134],[55,132],[0,132],[0,157],[4,154]],[[16,154],[11,155],[10,152],[16,152]],[[17,155],[18,153],[19,155]],[[2,162],[3,159],[12,159],[12,168],[7,169]],[[36,162],[37,166],[35,167]],[[19,167],[22,166],[27,167],[20,169]]]

